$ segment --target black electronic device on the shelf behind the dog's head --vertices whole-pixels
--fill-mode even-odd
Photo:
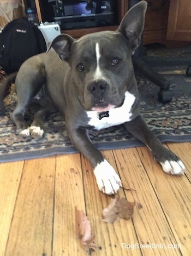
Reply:
[[[62,30],[108,26],[116,23],[115,0],[61,1],[52,5],[53,20]],[[114,11],[115,10],[115,11]]]

